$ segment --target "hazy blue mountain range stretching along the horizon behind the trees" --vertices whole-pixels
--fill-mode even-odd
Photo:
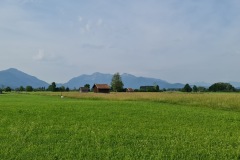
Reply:
[[[91,75],[80,75],[78,77],[70,79],[68,82],[63,84],[57,84],[57,86],[65,86],[70,89],[79,88],[85,84],[90,84],[93,86],[95,83],[106,83],[110,84],[112,79],[112,74],[103,74],[103,73],[93,73]],[[160,88],[183,88],[184,84],[181,83],[169,83],[167,81],[156,79],[156,78],[147,78],[147,77],[137,77],[131,74],[124,73],[121,75],[122,81],[125,88],[134,88],[139,89],[140,86],[152,86],[159,85]],[[240,87],[239,82],[231,82],[234,87]],[[20,86],[32,86],[33,88],[45,87],[47,88],[50,84],[40,80],[34,76],[26,74],[22,71],[19,71],[15,68],[10,68],[7,70],[0,71],[0,87],[9,86],[11,88],[17,88]],[[205,82],[191,83],[191,85],[209,87],[211,84]]]

